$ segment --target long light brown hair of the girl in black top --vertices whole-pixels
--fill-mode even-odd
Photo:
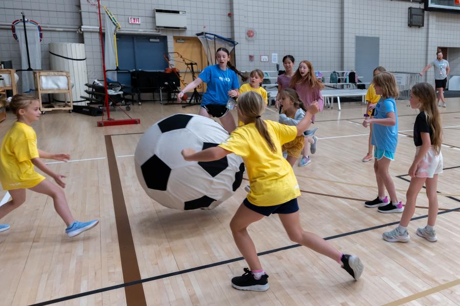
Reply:
[[[433,86],[425,82],[418,83],[412,87],[410,93],[420,99],[420,111],[425,112],[426,121],[433,131],[431,144],[436,154],[439,154],[443,142],[443,128]]]

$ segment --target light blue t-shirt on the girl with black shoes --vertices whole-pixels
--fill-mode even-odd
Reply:
[[[396,109],[396,101],[394,98],[381,98],[376,107],[374,118],[385,119],[388,113],[395,113],[396,124],[393,126],[385,126],[377,123],[372,124],[372,138],[371,143],[376,148],[396,152],[396,145],[398,144],[398,111]]]

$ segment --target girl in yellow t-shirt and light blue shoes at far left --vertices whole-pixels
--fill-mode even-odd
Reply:
[[[34,166],[53,177],[56,183],[64,188],[64,175],[51,171],[40,158],[68,161],[70,155],[51,154],[37,148],[37,136],[30,126],[40,117],[38,100],[29,95],[16,94],[10,103],[11,111],[17,121],[7,132],[0,148],[0,183],[8,190],[11,200],[0,207],[0,219],[26,201],[26,189],[51,196],[54,208],[67,225],[65,233],[74,237],[98,224],[98,220],[89,222],[75,221],[67,205],[64,191],[51,183],[43,175],[35,172]],[[8,224],[0,224],[0,232],[10,228]]]

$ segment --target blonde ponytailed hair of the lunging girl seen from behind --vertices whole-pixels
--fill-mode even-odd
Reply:
[[[238,98],[238,109],[241,114],[247,118],[256,119],[256,129],[259,134],[265,139],[272,152],[277,151],[277,147],[271,140],[268,134],[267,124],[261,118],[265,110],[265,102],[260,94],[254,91],[244,92]]]

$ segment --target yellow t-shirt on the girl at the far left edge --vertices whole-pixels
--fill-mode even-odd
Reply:
[[[31,159],[38,158],[37,135],[31,126],[15,122],[0,148],[0,183],[4,190],[32,188],[45,177],[35,172]]]

